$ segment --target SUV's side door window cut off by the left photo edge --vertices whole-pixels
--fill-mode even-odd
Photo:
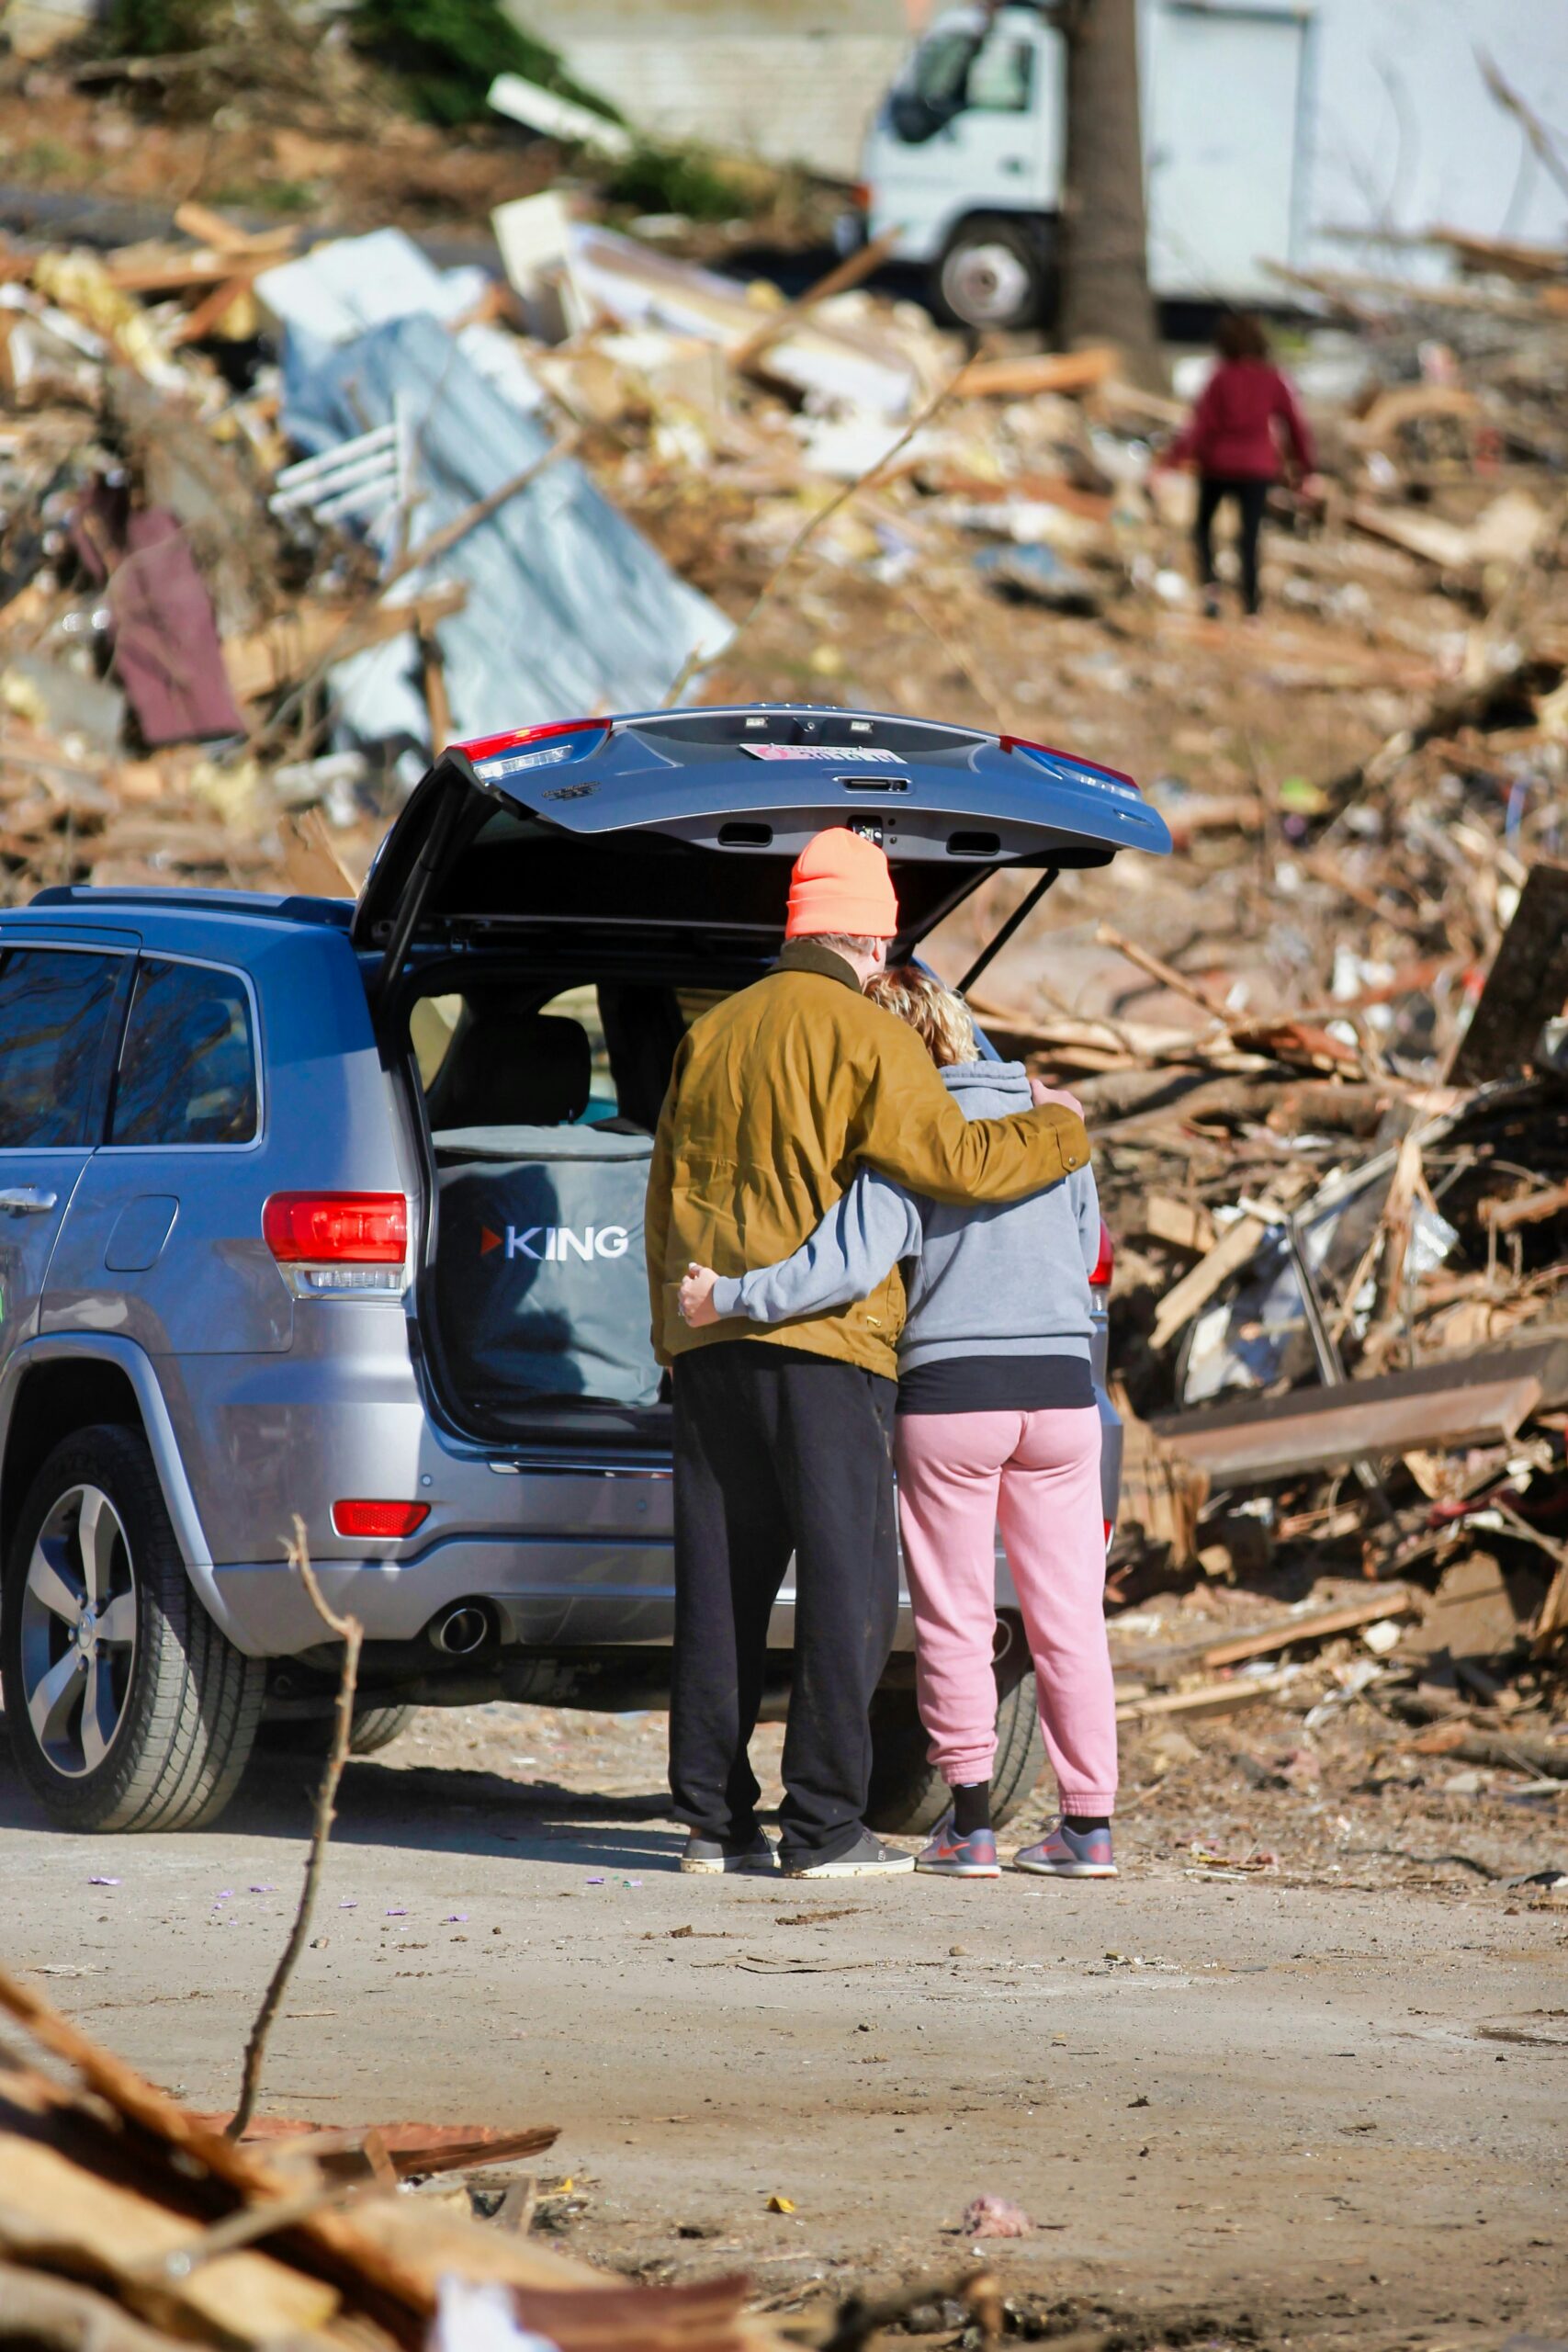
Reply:
[[[96,1143],[118,955],[0,955],[0,1150]]]

